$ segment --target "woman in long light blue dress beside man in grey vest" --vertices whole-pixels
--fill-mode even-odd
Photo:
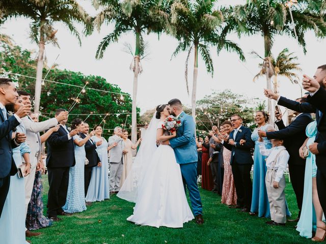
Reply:
[[[107,173],[107,141],[102,137],[102,127],[96,126],[94,128],[95,136],[91,137],[91,140],[96,143],[102,141],[102,144],[96,147],[96,152],[101,160],[101,164],[97,167],[93,167],[90,186],[88,188],[86,201],[95,202],[103,201],[110,198],[110,188],[108,185],[108,173]]]

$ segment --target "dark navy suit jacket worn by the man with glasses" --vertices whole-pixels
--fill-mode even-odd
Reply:
[[[230,133],[230,139],[233,139],[234,130]],[[246,140],[246,143],[240,145],[240,140]],[[251,139],[251,130],[247,127],[241,126],[236,133],[235,140],[236,146],[232,146],[227,142],[224,142],[224,146],[231,151],[231,162],[236,161],[237,164],[253,164],[253,158],[251,156],[250,149],[255,146],[255,143]]]

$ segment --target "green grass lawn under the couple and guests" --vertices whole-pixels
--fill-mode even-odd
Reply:
[[[43,200],[47,202],[47,177],[43,178]],[[293,217],[297,207],[292,187],[287,183],[287,202]],[[40,236],[29,238],[37,243],[311,243],[287,223],[285,227],[268,226],[267,219],[252,217],[221,204],[221,197],[200,189],[204,220],[184,224],[181,229],[138,226],[126,221],[133,203],[116,196],[93,203],[82,213],[63,217]],[[46,205],[46,204],[44,204]],[[46,209],[44,209],[46,212]],[[0,241],[1,242],[1,241]]]

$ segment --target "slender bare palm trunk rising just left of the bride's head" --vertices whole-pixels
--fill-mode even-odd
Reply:
[[[136,50],[134,56],[134,68],[133,68],[133,88],[132,88],[132,111],[131,111],[131,141],[136,143],[137,141],[137,87],[138,87],[138,75],[140,72],[140,33],[136,33]]]

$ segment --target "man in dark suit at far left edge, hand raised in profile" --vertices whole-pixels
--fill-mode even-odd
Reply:
[[[17,173],[17,167],[12,157],[12,148],[26,140],[23,133],[16,133],[12,139],[12,130],[21,123],[21,118],[31,112],[31,105],[23,105],[10,116],[6,105],[14,104],[18,98],[15,84],[7,78],[0,78],[0,217],[7,198],[10,176]],[[31,165],[26,165],[24,174],[28,174]]]

